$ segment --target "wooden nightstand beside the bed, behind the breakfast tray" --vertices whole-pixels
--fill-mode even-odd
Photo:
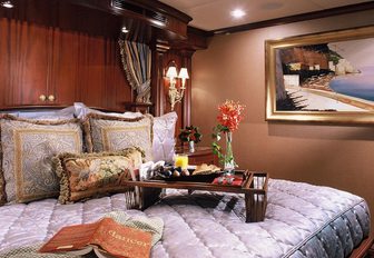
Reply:
[[[187,155],[189,165],[214,163],[218,166],[218,158],[210,147],[195,147],[195,152],[189,152],[188,148],[177,148],[176,152]]]

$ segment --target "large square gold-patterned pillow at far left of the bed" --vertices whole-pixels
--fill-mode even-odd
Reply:
[[[4,115],[0,125],[7,201],[57,197],[59,180],[51,160],[60,152],[82,151],[79,121],[27,120]]]

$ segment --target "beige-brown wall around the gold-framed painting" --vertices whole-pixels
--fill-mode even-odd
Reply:
[[[264,52],[266,39],[374,24],[372,10],[214,37],[207,50],[193,57],[191,123],[201,128],[200,145],[210,142],[217,105],[238,100],[246,105],[246,118],[233,148],[242,168],[354,192],[374,215],[374,125],[265,121]]]

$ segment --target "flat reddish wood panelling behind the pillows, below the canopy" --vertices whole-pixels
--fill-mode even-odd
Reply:
[[[1,18],[0,57],[1,108],[82,101],[124,110],[132,99],[112,38]]]

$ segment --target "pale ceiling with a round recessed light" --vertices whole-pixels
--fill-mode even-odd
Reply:
[[[275,18],[350,6],[367,0],[160,0],[190,16],[189,26],[203,30],[218,30]],[[246,16],[234,19],[230,11],[243,9]]]

